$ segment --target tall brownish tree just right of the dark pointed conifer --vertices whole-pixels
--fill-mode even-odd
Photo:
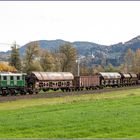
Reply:
[[[24,72],[30,72],[33,71],[34,65],[36,65],[36,62],[39,63],[40,61],[40,47],[38,42],[31,42],[28,44],[26,50],[25,50],[25,57],[24,57]],[[40,66],[41,67],[41,66]],[[36,70],[41,70],[42,68],[36,69]]]

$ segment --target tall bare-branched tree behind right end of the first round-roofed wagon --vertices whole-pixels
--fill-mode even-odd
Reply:
[[[70,44],[66,43],[59,47],[59,62],[61,71],[73,71],[76,63],[77,52],[76,49]]]

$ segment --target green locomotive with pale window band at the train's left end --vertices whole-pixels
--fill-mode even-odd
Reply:
[[[0,72],[0,94],[2,96],[25,94],[25,77],[25,73]]]

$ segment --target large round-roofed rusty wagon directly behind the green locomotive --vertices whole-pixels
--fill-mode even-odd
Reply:
[[[28,77],[28,83],[34,88],[47,91],[70,90],[74,76],[70,72],[32,72]]]

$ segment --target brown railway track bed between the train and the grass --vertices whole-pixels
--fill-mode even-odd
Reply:
[[[74,96],[81,94],[95,94],[95,93],[106,93],[111,91],[121,91],[126,89],[136,89],[140,88],[139,86],[131,86],[131,87],[121,87],[121,88],[106,88],[106,89],[98,89],[98,90],[83,90],[83,91],[73,91],[73,92],[51,92],[51,93],[40,93],[40,94],[27,94],[27,95],[17,95],[17,96],[1,96],[0,102],[7,101],[15,101],[19,99],[35,99],[35,98],[56,98],[63,96]]]

